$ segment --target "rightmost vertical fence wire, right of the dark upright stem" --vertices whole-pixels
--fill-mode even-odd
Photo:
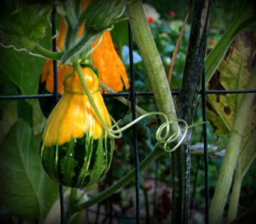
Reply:
[[[202,68],[202,121],[207,121],[207,101],[205,89],[205,67]],[[203,124],[203,150],[204,150],[204,185],[205,185],[205,223],[209,223],[209,178],[208,178],[208,145],[207,124]]]

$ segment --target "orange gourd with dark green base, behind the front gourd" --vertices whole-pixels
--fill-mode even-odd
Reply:
[[[88,1],[82,1],[83,5],[81,9],[84,9]],[[63,51],[64,38],[66,34],[66,25],[63,17],[61,18],[58,36],[56,38],[57,47]],[[81,36],[84,30],[84,24],[81,25],[78,31],[77,38]],[[91,48],[94,48],[99,39],[92,44]],[[118,53],[114,49],[114,44],[111,39],[109,31],[105,31],[102,36],[100,45],[91,53],[93,59],[92,65],[94,65],[100,72],[100,80],[107,85],[110,89],[114,89],[115,92],[126,91],[129,88],[128,75],[126,73],[123,62],[119,58]],[[63,94],[63,78],[69,66],[61,65],[58,63],[58,93]],[[102,89],[100,90],[103,92]],[[46,60],[42,74],[40,76],[39,94],[52,94],[54,93],[54,70],[53,62]],[[119,103],[118,100],[113,98],[105,98],[106,105],[109,109],[109,113],[119,120],[127,112],[128,107]],[[108,102],[109,101],[109,102]],[[114,101],[114,102],[113,102]],[[40,107],[45,117],[49,116],[49,113],[54,108],[53,98],[40,98]]]

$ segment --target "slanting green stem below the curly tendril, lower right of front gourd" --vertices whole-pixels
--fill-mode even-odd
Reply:
[[[157,158],[161,156],[162,153],[165,153],[163,147],[159,144],[156,144],[155,149],[145,158],[139,167],[139,171],[143,171],[145,168],[149,167],[152,162],[155,162]],[[129,181],[132,181],[135,176],[135,169],[128,172],[126,176],[123,176],[121,180],[119,180],[116,184],[109,187],[107,190],[102,191],[100,194],[97,194],[94,198],[86,201],[85,203],[76,204],[67,209],[66,220],[72,216],[73,213],[77,213],[83,209],[90,208],[95,203],[99,203],[103,199],[109,197],[109,195],[113,194],[115,191],[119,190],[124,185],[127,185]]]

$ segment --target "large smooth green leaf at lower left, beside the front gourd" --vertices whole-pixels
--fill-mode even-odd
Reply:
[[[40,136],[31,135],[31,131],[25,121],[18,120],[3,139],[0,203],[3,208],[12,209],[13,216],[34,223],[34,217],[44,222],[58,199],[58,184],[41,166]]]

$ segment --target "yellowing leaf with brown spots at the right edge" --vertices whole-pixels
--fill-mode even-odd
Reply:
[[[208,89],[246,89],[253,70],[254,35],[244,30],[230,45]],[[229,134],[239,107],[242,94],[208,94],[207,118],[215,135]],[[248,128],[246,128],[248,129]]]

